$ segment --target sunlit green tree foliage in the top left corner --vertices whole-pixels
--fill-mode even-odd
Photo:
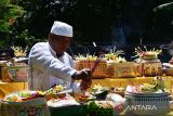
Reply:
[[[8,47],[12,26],[23,13],[23,8],[12,4],[11,0],[0,1],[0,48]]]

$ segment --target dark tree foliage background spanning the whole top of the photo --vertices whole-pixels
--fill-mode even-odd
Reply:
[[[74,26],[71,46],[168,43],[173,38],[172,0],[1,0],[0,48],[45,41],[54,21]]]

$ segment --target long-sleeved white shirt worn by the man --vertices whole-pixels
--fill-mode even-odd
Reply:
[[[28,63],[29,89],[48,90],[54,83],[72,88],[71,75],[77,70],[74,69],[74,60],[68,53],[65,52],[57,59],[49,42],[39,42],[31,48]]]

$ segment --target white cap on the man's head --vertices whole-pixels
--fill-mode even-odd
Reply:
[[[58,35],[58,36],[66,36],[66,37],[72,37],[72,26],[55,21],[52,28],[51,34]]]

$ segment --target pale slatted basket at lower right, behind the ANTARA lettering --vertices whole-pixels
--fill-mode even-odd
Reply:
[[[125,92],[125,111],[137,115],[160,115],[170,112],[168,93]]]

